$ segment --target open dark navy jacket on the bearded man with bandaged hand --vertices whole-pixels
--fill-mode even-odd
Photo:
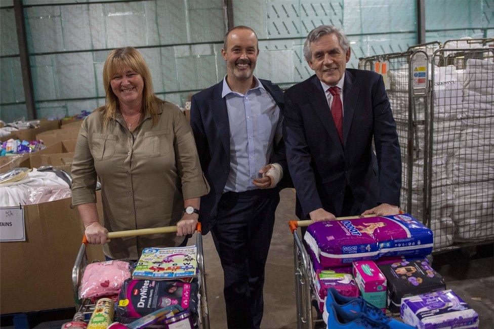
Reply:
[[[281,89],[273,85],[271,81],[259,80],[282,111],[283,92]],[[206,234],[214,225],[218,201],[230,173],[230,124],[226,100],[221,97],[222,91],[223,80],[192,96],[190,107],[190,126],[194,133],[202,172],[211,187],[209,194],[202,196],[200,202],[199,221],[202,224],[203,234]],[[291,182],[283,140],[273,149],[274,154],[270,163],[277,162],[283,168],[283,178],[276,186],[277,189],[281,189]]]

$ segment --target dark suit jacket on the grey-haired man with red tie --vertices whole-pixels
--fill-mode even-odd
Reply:
[[[316,75],[287,90],[284,101],[283,139],[299,218],[318,208],[349,216],[380,203],[399,205],[400,148],[381,75],[345,71],[344,146]],[[341,214],[347,185],[355,202],[352,214]]]

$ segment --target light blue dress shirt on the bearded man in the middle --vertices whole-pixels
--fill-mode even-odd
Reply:
[[[245,95],[233,92],[223,78],[221,97],[226,100],[230,122],[230,173],[225,192],[244,192],[258,187],[259,170],[269,164],[273,141],[281,139],[283,117],[276,102],[254,77],[255,87]]]

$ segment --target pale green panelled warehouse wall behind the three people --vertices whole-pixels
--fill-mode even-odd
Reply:
[[[140,47],[155,92],[183,105],[226,73],[222,0],[24,1],[38,117],[63,117],[104,104],[102,68],[110,49]],[[0,117],[26,114],[12,1],[0,2]],[[494,0],[427,0],[427,39],[492,35]],[[234,0],[235,25],[256,30],[256,75],[282,87],[312,75],[302,46],[320,24],[342,27],[358,58],[417,43],[416,0]],[[467,14],[468,13],[468,14]]]

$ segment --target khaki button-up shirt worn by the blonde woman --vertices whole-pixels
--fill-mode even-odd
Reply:
[[[72,162],[73,204],[96,202],[101,182],[103,226],[109,232],[176,225],[184,199],[209,192],[194,137],[175,105],[164,102],[152,127],[147,114],[131,133],[120,113],[103,128],[96,110],[81,125]],[[104,245],[106,256],[137,260],[143,248],[175,246],[176,233],[117,238]]]

